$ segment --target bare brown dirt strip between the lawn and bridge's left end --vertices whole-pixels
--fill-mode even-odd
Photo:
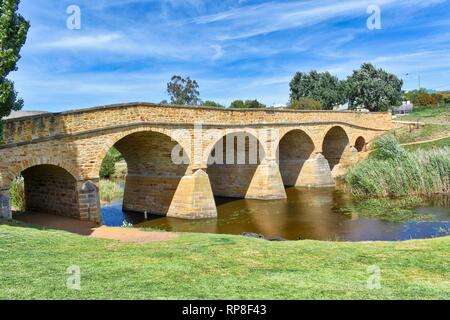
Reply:
[[[180,236],[174,232],[146,232],[133,228],[99,226],[89,221],[80,221],[45,213],[18,213],[15,220],[51,229],[59,229],[83,236],[118,240],[123,242],[146,243],[152,241],[167,241]]]

